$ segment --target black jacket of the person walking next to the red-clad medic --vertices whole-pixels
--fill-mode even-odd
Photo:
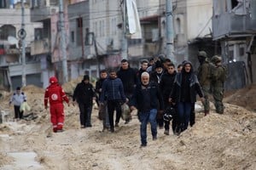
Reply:
[[[81,104],[92,105],[92,98],[96,97],[95,90],[89,82],[85,84],[80,82],[73,92],[73,101]]]

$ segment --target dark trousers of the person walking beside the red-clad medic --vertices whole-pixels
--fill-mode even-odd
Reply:
[[[91,116],[92,105],[85,105],[79,103],[79,111],[80,111],[80,123],[84,125],[84,127],[90,127],[90,116]]]

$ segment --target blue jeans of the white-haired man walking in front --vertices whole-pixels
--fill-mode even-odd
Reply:
[[[151,133],[153,137],[157,136],[157,123],[156,123],[157,110],[152,109],[150,111],[139,112],[139,120],[141,122],[141,142],[147,144],[147,124],[150,122]]]

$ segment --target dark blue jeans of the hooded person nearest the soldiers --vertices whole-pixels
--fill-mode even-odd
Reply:
[[[177,103],[177,126],[181,131],[184,131],[189,126],[192,105],[194,104],[190,102]]]

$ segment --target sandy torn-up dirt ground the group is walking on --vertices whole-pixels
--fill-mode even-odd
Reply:
[[[195,126],[180,136],[166,136],[164,129],[158,129],[158,139],[153,141],[148,125],[148,146],[143,149],[139,148],[140,123],[136,115],[128,124],[120,121],[115,133],[102,133],[96,106],[93,127],[81,129],[78,106],[65,104],[65,131],[52,133],[49,111],[44,110],[44,89],[28,86],[23,90],[31,112],[38,118],[0,124],[0,169],[6,165],[20,169],[8,153],[21,151],[36,152],[40,169],[50,170],[256,169],[255,86],[227,96],[224,115],[215,113],[211,103],[211,114],[204,116],[201,103],[197,103]],[[67,91],[72,92],[72,88]],[[0,105],[12,113],[10,95],[4,94]]]

